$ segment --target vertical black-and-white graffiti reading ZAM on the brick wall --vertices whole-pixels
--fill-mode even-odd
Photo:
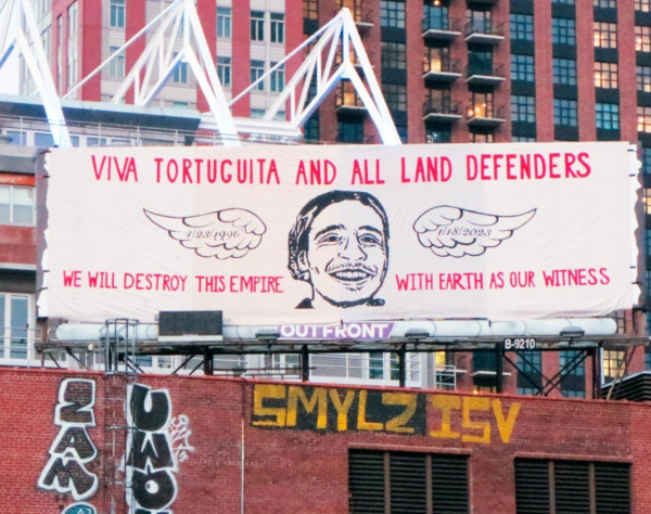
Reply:
[[[98,490],[98,476],[88,465],[98,457],[88,432],[95,426],[95,383],[66,378],[59,387],[54,424],[60,426],[52,442],[50,459],[38,479],[38,487],[59,493],[71,493],[76,500],[87,500]]]

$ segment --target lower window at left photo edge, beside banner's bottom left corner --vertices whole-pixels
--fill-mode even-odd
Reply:
[[[0,357],[27,359],[34,347],[29,331],[30,295],[0,293]]]

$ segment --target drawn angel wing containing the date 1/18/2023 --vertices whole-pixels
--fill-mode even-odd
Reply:
[[[438,257],[475,257],[499,246],[535,214],[536,209],[532,209],[515,216],[497,216],[439,205],[423,213],[413,223],[413,231],[420,244]]]

